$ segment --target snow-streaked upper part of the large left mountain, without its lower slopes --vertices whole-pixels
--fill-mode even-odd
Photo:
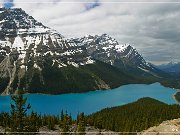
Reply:
[[[16,52],[22,65],[27,63],[30,56],[48,55],[54,57],[60,67],[66,66],[67,62],[77,66],[93,62],[89,57],[78,58],[84,56],[83,47],[37,22],[22,9],[0,10],[0,35],[1,60],[11,52]]]

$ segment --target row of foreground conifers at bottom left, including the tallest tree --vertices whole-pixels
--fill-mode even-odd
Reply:
[[[0,113],[0,126],[5,129],[5,132],[11,134],[37,134],[41,127],[47,127],[49,130],[54,130],[55,126],[59,126],[61,134],[69,134],[75,132],[76,134],[85,134],[85,115],[79,113],[77,119],[73,120],[71,115],[62,111],[60,115],[41,115],[36,112],[28,114],[31,108],[27,104],[27,97],[23,94],[14,95],[11,97],[11,111],[10,113]]]

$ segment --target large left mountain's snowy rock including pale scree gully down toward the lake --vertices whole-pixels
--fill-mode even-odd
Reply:
[[[30,66],[42,70],[47,58],[59,68],[94,63],[83,46],[66,40],[22,9],[0,8],[0,75],[10,78],[4,92],[10,93],[17,73],[24,76]]]

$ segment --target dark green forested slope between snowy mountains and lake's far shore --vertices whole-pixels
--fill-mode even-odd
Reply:
[[[13,89],[24,89],[26,87],[29,93],[62,94],[112,89],[125,84],[153,83],[156,81],[155,78],[151,77],[127,74],[100,61],[79,68],[71,65],[58,68],[56,64],[51,66],[51,63],[51,60],[47,60],[46,66],[42,68],[41,72],[29,68],[26,75],[20,80],[19,86],[17,85],[18,77],[14,79]],[[4,84],[6,83],[4,82]]]

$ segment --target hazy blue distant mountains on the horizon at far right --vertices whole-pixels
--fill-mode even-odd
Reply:
[[[180,74],[180,62],[179,63],[170,62],[168,64],[159,65],[158,68],[160,68],[165,72]]]

